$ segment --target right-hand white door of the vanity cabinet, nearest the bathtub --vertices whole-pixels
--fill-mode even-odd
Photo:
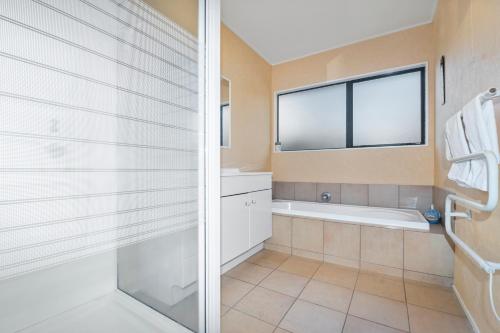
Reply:
[[[265,190],[249,194],[250,205],[250,247],[262,243],[273,233],[272,191]]]

